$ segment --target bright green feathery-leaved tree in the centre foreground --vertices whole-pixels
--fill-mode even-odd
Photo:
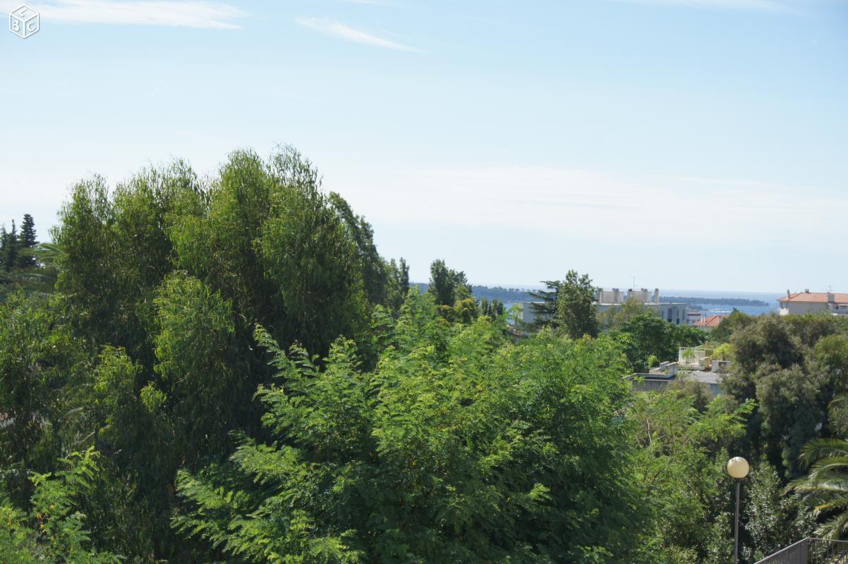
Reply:
[[[181,473],[176,526],[245,561],[624,561],[639,516],[620,353],[501,335],[445,328],[414,292],[373,372],[350,340],[319,368],[259,330],[281,369],[259,391],[276,442]]]

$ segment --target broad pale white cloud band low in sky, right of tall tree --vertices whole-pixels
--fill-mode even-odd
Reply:
[[[325,180],[333,184],[332,177]],[[701,225],[709,226],[712,241],[728,245],[836,241],[845,232],[840,218],[848,215],[845,198],[819,191],[799,198],[796,186],[540,167],[350,172],[333,189],[381,223],[521,225],[546,236],[591,233],[606,242],[637,233],[658,245],[701,245]],[[447,201],[452,205],[441,205]]]

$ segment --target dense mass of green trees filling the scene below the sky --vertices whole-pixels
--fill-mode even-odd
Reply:
[[[722,395],[634,395],[706,335],[573,270],[532,328],[442,260],[421,293],[290,147],[92,177],[52,235],[0,236],[3,562],[726,563],[741,454],[750,564],[848,433],[844,321],[734,312]]]

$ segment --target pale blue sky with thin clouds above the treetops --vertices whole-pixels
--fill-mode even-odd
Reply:
[[[0,13],[20,0],[0,0]],[[848,292],[848,0],[31,0],[0,222],[297,147],[426,281]]]

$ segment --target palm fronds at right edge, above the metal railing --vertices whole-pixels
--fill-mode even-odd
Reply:
[[[808,473],[786,489],[794,490],[814,517],[829,517],[816,529],[825,539],[848,534],[848,440],[814,439],[801,450],[801,466]]]

